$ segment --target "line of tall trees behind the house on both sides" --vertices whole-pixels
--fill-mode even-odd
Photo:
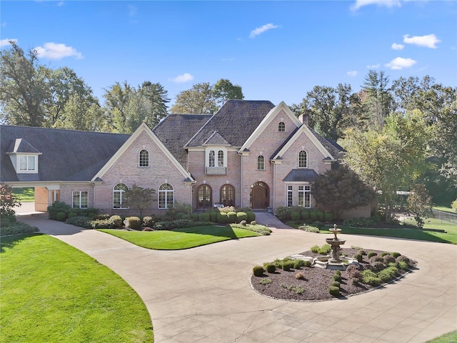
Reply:
[[[169,113],[213,114],[227,99],[244,97],[228,79],[194,84],[171,108],[159,83],[116,82],[104,91],[100,104],[72,69],[44,66],[36,51],[14,42],[0,51],[3,124],[131,133],[143,121],[154,127]],[[457,198],[456,95],[430,76],[390,81],[371,70],[360,91],[349,84],[315,86],[291,110],[308,114],[314,130],[346,149],[345,163],[382,194],[388,216],[396,191],[413,184],[425,184],[440,204]]]

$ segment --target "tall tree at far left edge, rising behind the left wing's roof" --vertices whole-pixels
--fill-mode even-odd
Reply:
[[[48,96],[42,66],[36,51],[28,56],[10,41],[11,49],[0,51],[0,106],[1,119],[6,124],[42,126]]]

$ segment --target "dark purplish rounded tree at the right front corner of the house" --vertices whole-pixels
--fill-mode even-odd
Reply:
[[[343,211],[371,204],[375,193],[351,169],[340,165],[319,175],[313,184],[313,197],[319,207],[341,218]]]

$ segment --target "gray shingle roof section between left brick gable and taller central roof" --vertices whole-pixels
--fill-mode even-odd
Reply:
[[[179,163],[187,166],[184,145],[201,129],[211,114],[169,114],[152,130]]]

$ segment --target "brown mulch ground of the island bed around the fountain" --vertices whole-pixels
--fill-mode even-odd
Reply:
[[[368,252],[376,252],[381,254],[383,251],[376,249],[364,249]],[[358,252],[358,249],[341,249],[342,254],[346,254],[348,257],[353,257]],[[302,252],[304,256],[318,257],[323,256],[315,254],[311,251]],[[272,261],[271,261],[272,262]],[[368,264],[367,257],[363,257],[361,265]],[[416,265],[415,262],[411,261],[413,267]],[[302,272],[305,279],[296,279],[295,275],[297,272]],[[400,271],[402,276],[407,272]],[[333,295],[328,293],[328,287],[333,282],[333,274],[335,270],[323,269],[319,267],[301,267],[300,269],[291,269],[291,271],[283,271],[282,269],[276,268],[276,272],[268,273],[265,272],[262,277],[251,276],[251,286],[256,292],[274,299],[286,299],[295,301],[321,301],[335,299]],[[268,284],[261,284],[262,280],[271,279]],[[341,287],[340,287],[340,298],[351,297],[356,294],[365,293],[375,289],[368,284],[354,285],[351,279],[348,278],[345,271],[341,271]],[[298,294],[293,287],[302,287],[304,292]]]

